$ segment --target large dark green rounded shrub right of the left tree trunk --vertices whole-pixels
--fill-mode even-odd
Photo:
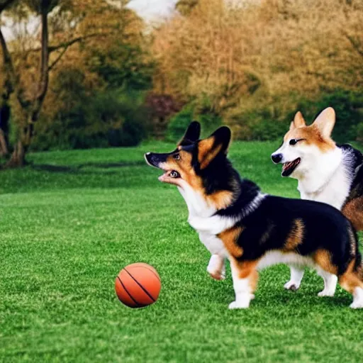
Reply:
[[[91,96],[52,121],[36,125],[32,150],[134,146],[145,137],[147,116],[136,96]]]

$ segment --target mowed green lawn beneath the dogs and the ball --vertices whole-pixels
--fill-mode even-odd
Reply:
[[[263,191],[298,197],[269,155],[277,143],[234,143],[230,158]],[[229,311],[233,286],[206,273],[210,255],[179,192],[136,148],[44,152],[0,172],[1,362],[362,362],[363,311],[306,272],[260,274],[256,298]],[[132,262],[160,273],[152,306],[119,303],[114,279]]]

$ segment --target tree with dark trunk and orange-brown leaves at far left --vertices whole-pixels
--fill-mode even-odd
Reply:
[[[40,18],[40,33],[28,44],[6,42],[0,29],[6,94],[13,94],[17,120],[17,140],[9,167],[22,166],[34,135],[45,96],[50,72],[69,55],[74,45],[107,43],[109,37],[130,33],[136,17],[125,9],[125,1],[106,0],[3,0],[0,15],[27,20]],[[137,26],[140,26],[138,23]]]

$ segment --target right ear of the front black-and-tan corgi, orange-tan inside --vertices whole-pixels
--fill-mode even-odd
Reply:
[[[209,138],[199,141],[198,161],[201,169],[205,169],[220,152],[227,155],[230,145],[230,128],[222,126],[214,131]]]

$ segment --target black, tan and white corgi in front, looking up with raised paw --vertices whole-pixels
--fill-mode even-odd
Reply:
[[[145,159],[164,171],[160,181],[177,186],[186,201],[189,224],[213,255],[208,272],[223,277],[229,259],[235,291],[229,308],[248,308],[257,271],[277,263],[314,268],[325,283],[319,296],[333,296],[339,279],[353,295],[350,306],[363,308],[362,259],[350,221],[328,204],[262,194],[241,179],[227,158],[228,127],[199,136],[194,121],[175,150],[147,152]]]

